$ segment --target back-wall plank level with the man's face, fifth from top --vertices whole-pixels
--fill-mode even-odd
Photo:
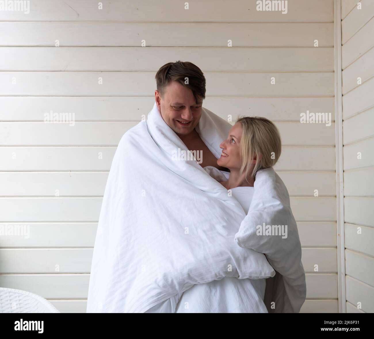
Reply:
[[[0,97],[1,121],[43,121],[44,113],[74,112],[80,120],[140,120],[147,117],[154,96],[147,97]],[[203,107],[227,120],[237,115],[265,116],[272,121],[300,121],[300,113],[331,112],[334,98],[250,98],[207,96]],[[235,107],[235,113],[232,108]]]

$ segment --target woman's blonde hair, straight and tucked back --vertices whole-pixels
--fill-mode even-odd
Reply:
[[[237,119],[242,125],[240,139],[240,156],[242,166],[240,174],[245,170],[245,177],[254,177],[258,170],[272,167],[281,156],[282,141],[278,128],[269,119],[261,116],[244,116]],[[252,173],[249,169],[256,157]]]

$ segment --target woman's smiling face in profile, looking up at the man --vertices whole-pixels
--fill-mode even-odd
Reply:
[[[230,170],[240,169],[242,160],[240,158],[240,139],[242,138],[242,125],[237,122],[229,131],[227,139],[224,140],[221,157],[217,160],[217,165]]]

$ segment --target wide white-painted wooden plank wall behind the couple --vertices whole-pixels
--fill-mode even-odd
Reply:
[[[188,10],[172,0],[102,3],[34,0],[28,15],[0,12],[0,221],[30,227],[29,236],[0,237],[0,285],[85,312],[116,145],[152,108],[159,67],[184,60],[206,76],[206,108],[275,121],[283,141],[276,170],[307,272],[301,311],[337,312],[333,1],[288,0],[287,14],[259,12],[254,0],[190,2]],[[353,114],[355,99],[347,100]],[[50,111],[74,112],[74,125],[44,123]],[[301,124],[306,111],[330,112],[331,126]]]

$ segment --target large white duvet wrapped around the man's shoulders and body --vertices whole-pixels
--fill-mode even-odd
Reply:
[[[219,157],[231,125],[203,109],[196,128]],[[188,152],[154,105],[119,142],[105,187],[87,312],[145,312],[195,284],[275,275],[234,241],[246,214]]]

